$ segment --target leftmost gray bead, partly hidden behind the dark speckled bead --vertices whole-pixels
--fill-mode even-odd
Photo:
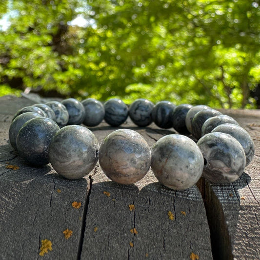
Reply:
[[[38,117],[42,117],[42,116],[37,113],[26,112],[26,113],[20,114],[18,117],[16,117],[12,121],[10,128],[9,128],[9,141],[15,150],[17,150],[16,138],[20,131],[20,128],[23,126],[24,123],[26,123],[30,119],[38,118]]]

